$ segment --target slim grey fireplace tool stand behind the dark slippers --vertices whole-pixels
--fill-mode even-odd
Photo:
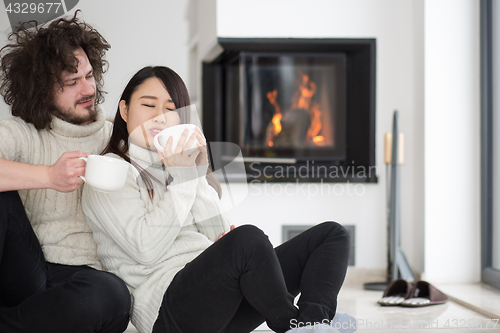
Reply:
[[[403,133],[399,132],[399,115],[394,111],[392,134],[385,134],[387,195],[387,281],[364,284],[366,290],[384,290],[397,279],[413,282],[415,277],[401,249],[400,165],[403,164]],[[390,169],[390,177],[389,177]],[[390,181],[389,181],[390,180]]]

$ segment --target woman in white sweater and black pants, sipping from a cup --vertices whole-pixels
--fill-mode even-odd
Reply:
[[[102,263],[131,291],[133,324],[139,332],[250,332],[265,320],[276,332],[311,323],[323,324],[306,332],[337,332],[327,324],[347,269],[348,233],[326,222],[273,249],[258,228],[230,226],[202,132],[184,132],[175,152],[171,138],[163,152],[154,148],[160,130],[189,122],[179,112],[189,105],[175,72],[141,69],[121,96],[104,152],[132,164],[127,183],[113,193],[84,188]],[[183,148],[196,139],[194,151]]]

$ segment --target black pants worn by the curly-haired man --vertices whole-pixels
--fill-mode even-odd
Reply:
[[[47,263],[17,192],[0,193],[0,332],[115,333],[130,294],[113,274]]]

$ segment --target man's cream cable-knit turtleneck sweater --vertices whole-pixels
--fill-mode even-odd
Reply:
[[[99,154],[109,141],[112,124],[97,107],[97,121],[73,125],[57,117],[50,130],[37,130],[18,117],[0,122],[0,158],[52,165],[64,152]],[[70,193],[52,189],[24,190],[19,195],[42,246],[45,259],[65,265],[101,268],[92,232],[81,206],[82,187]]]

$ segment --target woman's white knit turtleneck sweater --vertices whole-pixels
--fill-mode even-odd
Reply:
[[[206,181],[206,167],[166,171],[156,152],[131,145],[129,154],[161,181],[154,182],[152,201],[132,166],[122,190],[103,193],[85,186],[82,200],[103,266],[129,287],[132,323],[146,333],[175,274],[229,231],[229,222]],[[173,181],[165,188],[168,174]]]

